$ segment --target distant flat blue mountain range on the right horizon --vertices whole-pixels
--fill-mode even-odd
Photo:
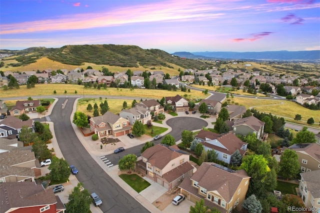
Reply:
[[[174,52],[173,55],[203,59],[250,59],[250,60],[320,60],[320,50],[309,51],[262,51],[262,52]]]

